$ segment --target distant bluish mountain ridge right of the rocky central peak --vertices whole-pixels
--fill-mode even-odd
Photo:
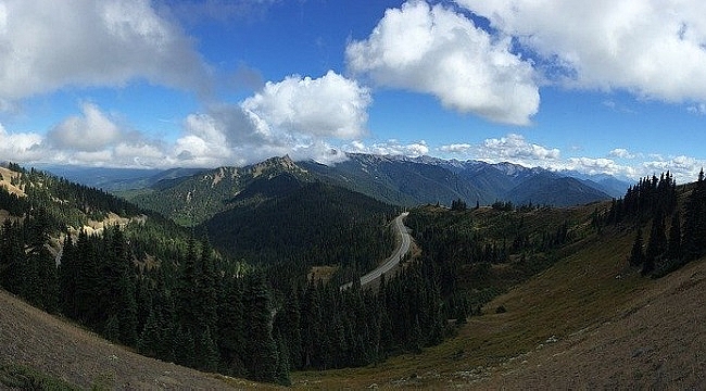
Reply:
[[[580,182],[543,168],[512,163],[356,153],[348,156],[349,160],[331,166],[314,162],[298,164],[333,184],[401,205],[437,202],[450,205],[462,199],[467,204],[489,205],[500,200],[569,206],[612,198],[598,184]]]

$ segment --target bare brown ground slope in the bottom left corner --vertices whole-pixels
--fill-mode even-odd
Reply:
[[[0,364],[28,366],[81,388],[270,388],[148,358],[34,308],[0,290]],[[0,383],[0,389],[2,384]]]

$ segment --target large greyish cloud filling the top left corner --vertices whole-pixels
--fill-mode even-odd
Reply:
[[[137,79],[200,91],[209,70],[148,0],[0,3],[0,102]]]

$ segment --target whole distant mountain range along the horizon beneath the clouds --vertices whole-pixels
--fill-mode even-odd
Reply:
[[[297,184],[322,181],[393,205],[469,205],[496,201],[570,206],[621,197],[629,182],[608,175],[552,172],[512,163],[349,153],[332,165],[272,157],[244,167],[128,171],[47,167],[87,186],[116,192],[184,225],[236,205],[262,202]],[[140,175],[141,174],[141,175]]]

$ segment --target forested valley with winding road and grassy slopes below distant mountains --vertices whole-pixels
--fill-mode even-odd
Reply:
[[[570,206],[402,207],[300,164],[157,181],[141,205],[4,168],[0,282],[17,297],[2,293],[0,381],[703,387],[702,177],[676,186],[667,173]]]

